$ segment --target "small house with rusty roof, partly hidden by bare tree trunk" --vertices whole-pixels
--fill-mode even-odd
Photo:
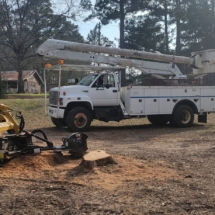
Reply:
[[[1,81],[6,93],[17,93],[18,91],[18,72],[2,71]],[[23,71],[22,79],[24,82],[25,93],[41,93],[44,82],[35,70]]]

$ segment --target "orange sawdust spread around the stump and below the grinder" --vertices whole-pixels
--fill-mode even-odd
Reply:
[[[45,152],[35,156],[21,156],[9,161],[2,177],[27,178],[28,180],[55,180],[81,185],[115,189],[128,181],[166,181],[180,178],[180,172],[163,161],[148,162],[130,157],[113,156],[116,164],[96,167],[92,170],[81,166],[81,159]]]

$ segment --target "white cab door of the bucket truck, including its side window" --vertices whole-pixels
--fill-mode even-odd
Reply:
[[[119,94],[113,74],[102,74],[89,89],[93,106],[118,106]]]

